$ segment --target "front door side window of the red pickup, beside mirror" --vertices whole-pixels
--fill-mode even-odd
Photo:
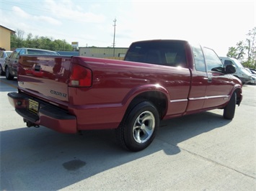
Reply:
[[[224,71],[224,65],[221,60],[219,60],[218,55],[216,55],[213,50],[206,47],[203,47],[203,52],[206,57],[207,70],[222,73]]]

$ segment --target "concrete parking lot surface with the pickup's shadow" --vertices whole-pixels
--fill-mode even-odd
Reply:
[[[127,152],[114,131],[27,128],[0,77],[0,190],[256,190],[256,86],[232,121],[222,110],[162,121],[153,143]]]

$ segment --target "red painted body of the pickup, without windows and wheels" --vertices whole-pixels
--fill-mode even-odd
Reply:
[[[117,128],[128,106],[138,97],[152,102],[164,100],[163,119],[224,108],[237,89],[242,100],[239,80],[232,75],[195,70],[190,44],[176,42],[185,47],[186,65],[182,67],[92,57],[22,56],[18,66],[19,93],[9,95],[9,101],[25,121],[75,133]],[[73,65],[92,72],[92,86],[71,85],[77,83],[70,81]],[[19,111],[17,105],[21,101],[22,109],[27,108],[29,98],[39,104],[38,113],[32,118]]]

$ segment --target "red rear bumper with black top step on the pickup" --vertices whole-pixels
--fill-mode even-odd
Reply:
[[[61,108],[16,92],[8,93],[8,98],[15,111],[31,124],[46,126],[66,134],[75,134],[77,132],[76,116],[70,115]],[[28,109],[29,99],[39,103],[37,113]]]

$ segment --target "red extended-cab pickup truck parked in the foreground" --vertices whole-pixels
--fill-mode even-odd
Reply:
[[[216,53],[185,40],[133,42],[124,60],[22,55],[9,102],[27,126],[63,133],[115,129],[123,148],[145,149],[159,121],[224,109],[232,119],[242,83]]]

